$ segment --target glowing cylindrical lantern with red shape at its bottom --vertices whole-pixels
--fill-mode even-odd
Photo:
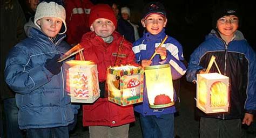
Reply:
[[[146,67],[145,75],[150,108],[174,105],[172,74],[169,64]]]

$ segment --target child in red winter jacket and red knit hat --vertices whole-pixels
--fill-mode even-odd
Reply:
[[[128,137],[129,123],[135,121],[133,106],[123,107],[108,101],[105,81],[107,67],[136,64],[132,43],[115,31],[117,19],[109,5],[93,6],[89,25],[91,32],[83,35],[80,45],[85,60],[97,64],[100,98],[93,104],[83,105],[83,125],[89,126],[91,138]]]

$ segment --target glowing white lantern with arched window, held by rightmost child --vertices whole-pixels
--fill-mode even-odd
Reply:
[[[197,74],[197,107],[205,113],[228,112],[228,77]]]

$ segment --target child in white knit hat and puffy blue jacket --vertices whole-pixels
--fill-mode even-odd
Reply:
[[[6,59],[5,81],[16,92],[19,128],[26,137],[69,137],[74,121],[70,97],[65,92],[60,55],[70,46],[65,38],[65,9],[55,2],[37,6],[28,38],[18,43]],[[62,28],[62,29],[61,29]]]

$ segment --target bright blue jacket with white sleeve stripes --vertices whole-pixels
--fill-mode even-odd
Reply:
[[[163,41],[165,37],[165,29],[163,29],[159,34],[152,35],[149,32],[144,32],[142,38],[138,39],[136,42],[133,43],[133,52],[136,55],[137,62],[141,62],[144,59],[149,60],[150,57],[155,52],[157,46],[160,45],[161,41]],[[168,37],[167,40],[164,42],[162,47],[166,48],[167,57],[165,60],[160,60],[160,55],[157,54],[152,59],[151,66],[159,65],[159,64],[170,64],[171,65],[171,73],[172,79],[178,79],[182,77],[186,72],[186,67],[183,61],[183,49],[180,43],[172,38]],[[143,93],[143,104],[138,104],[134,107],[136,112],[139,112],[143,115],[161,115],[161,114],[169,114],[176,112],[174,106],[167,107],[167,108],[159,108],[159,109],[152,109],[149,107],[149,100],[147,99],[147,90],[144,80],[144,93]],[[174,94],[175,95],[175,94]],[[176,97],[174,97],[176,98]]]

